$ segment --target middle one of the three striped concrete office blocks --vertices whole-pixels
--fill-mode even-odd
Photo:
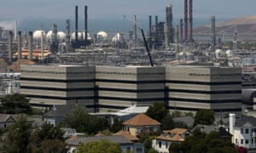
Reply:
[[[97,103],[101,111],[145,106],[165,100],[165,67],[96,66]]]

